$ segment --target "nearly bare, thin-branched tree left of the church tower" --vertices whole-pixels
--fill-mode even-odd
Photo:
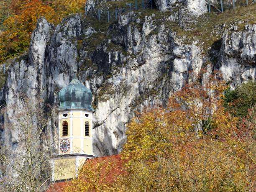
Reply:
[[[46,187],[51,178],[53,149],[46,134],[51,113],[45,115],[40,100],[33,102],[25,96],[20,100],[19,108],[3,110],[15,111],[3,126],[16,136],[17,142],[0,148],[0,186],[4,191],[35,192]]]

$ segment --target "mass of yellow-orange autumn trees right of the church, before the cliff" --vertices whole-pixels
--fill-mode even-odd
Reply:
[[[174,94],[168,110],[150,109],[131,121],[122,152],[128,174],[113,191],[254,189],[253,130],[238,138],[241,128],[222,105],[225,84],[210,78],[204,87],[189,84]]]

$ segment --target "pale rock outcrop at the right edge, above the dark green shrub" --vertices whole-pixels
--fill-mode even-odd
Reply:
[[[246,25],[246,31],[223,34],[218,68],[224,79],[235,87],[256,77],[256,25]]]

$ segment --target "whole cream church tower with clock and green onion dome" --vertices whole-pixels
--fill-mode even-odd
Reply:
[[[59,148],[53,158],[52,180],[76,177],[79,168],[92,152],[92,92],[74,78],[59,92]]]

